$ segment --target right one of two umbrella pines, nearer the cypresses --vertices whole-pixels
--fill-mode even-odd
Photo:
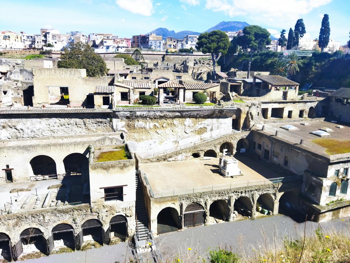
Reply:
[[[247,78],[250,76],[253,53],[266,49],[266,45],[271,43],[270,35],[267,29],[253,25],[243,28],[243,35],[238,37],[238,45],[244,50],[250,49]]]

